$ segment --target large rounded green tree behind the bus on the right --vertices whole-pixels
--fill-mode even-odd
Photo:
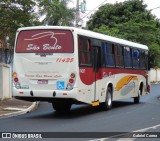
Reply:
[[[160,66],[160,20],[143,0],[106,4],[91,16],[88,29],[149,46],[151,67]]]

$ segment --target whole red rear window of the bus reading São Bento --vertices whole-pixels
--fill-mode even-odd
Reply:
[[[17,38],[17,53],[73,53],[69,30],[26,30]]]

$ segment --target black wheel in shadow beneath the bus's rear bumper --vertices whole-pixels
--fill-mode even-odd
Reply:
[[[52,107],[56,112],[69,112],[71,106],[71,102],[52,102]]]

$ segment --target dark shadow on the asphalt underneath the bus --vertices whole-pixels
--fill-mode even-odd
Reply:
[[[90,116],[92,114],[104,114],[106,112],[106,115],[111,114],[111,112],[116,112],[115,110],[118,110],[119,108],[127,108],[128,106],[134,106],[137,104],[134,104],[133,102],[126,102],[126,101],[114,101],[112,110],[109,111],[101,111],[98,108],[92,107],[90,105],[73,105],[71,108],[71,111],[68,113],[57,113],[54,111],[50,104],[40,103],[40,107],[37,109],[38,111],[31,112],[31,114],[28,118],[32,119],[73,119],[73,118],[80,118],[85,116]],[[143,103],[140,103],[143,104]],[[138,105],[140,105],[138,104]],[[41,106],[48,106],[47,111],[43,108],[41,109]],[[42,112],[40,112],[42,111]],[[37,113],[36,113],[37,112]]]

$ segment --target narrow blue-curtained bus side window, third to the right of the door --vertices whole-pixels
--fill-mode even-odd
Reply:
[[[130,53],[129,47],[124,47],[124,65],[125,68],[131,68],[132,62],[131,62],[131,53]]]

